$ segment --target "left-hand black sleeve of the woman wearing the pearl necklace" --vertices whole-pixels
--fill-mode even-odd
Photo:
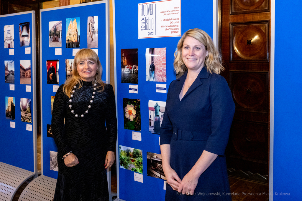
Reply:
[[[63,92],[63,84],[56,92],[55,99],[53,101],[53,112],[51,117],[51,130],[53,133],[53,139],[55,140],[58,152],[63,155],[72,151],[66,141],[65,129],[64,129],[64,114],[66,110],[66,95]]]

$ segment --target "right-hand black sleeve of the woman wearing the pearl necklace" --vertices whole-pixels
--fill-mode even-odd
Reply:
[[[117,139],[117,118],[115,109],[115,96],[113,87],[108,84],[108,106],[106,111],[106,127],[108,134],[108,151],[114,152]]]

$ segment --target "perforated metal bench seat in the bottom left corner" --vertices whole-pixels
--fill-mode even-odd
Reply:
[[[0,201],[13,200],[15,192],[35,173],[0,162]]]

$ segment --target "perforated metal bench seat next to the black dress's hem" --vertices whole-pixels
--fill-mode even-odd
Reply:
[[[44,175],[35,178],[23,190],[18,201],[51,201],[55,193],[56,181]]]

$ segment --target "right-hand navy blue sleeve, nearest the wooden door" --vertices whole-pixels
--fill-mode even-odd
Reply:
[[[210,101],[212,107],[211,134],[204,150],[224,155],[235,113],[235,104],[226,80],[220,75],[212,77]]]

